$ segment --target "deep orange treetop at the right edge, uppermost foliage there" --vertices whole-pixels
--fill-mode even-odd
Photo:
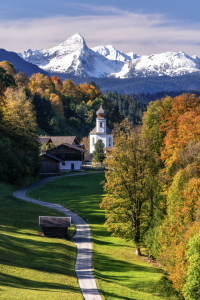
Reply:
[[[183,94],[169,100],[169,105],[160,111],[160,131],[165,133],[161,158],[166,171],[173,176],[177,171],[179,151],[188,141],[199,140],[200,97]]]

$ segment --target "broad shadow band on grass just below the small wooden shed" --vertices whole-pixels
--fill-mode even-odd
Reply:
[[[72,264],[74,247],[54,242],[52,239],[44,239],[39,241],[1,234],[1,264],[75,277]]]

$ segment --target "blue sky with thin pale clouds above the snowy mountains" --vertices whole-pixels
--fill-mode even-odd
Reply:
[[[6,0],[0,4],[0,48],[50,48],[78,32],[89,47],[200,56],[199,11],[199,0]]]

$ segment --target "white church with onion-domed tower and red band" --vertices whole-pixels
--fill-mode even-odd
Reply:
[[[90,132],[90,153],[95,150],[94,145],[98,140],[104,143],[105,151],[113,147],[113,134],[106,125],[106,111],[102,108],[102,104],[96,115],[96,127]]]

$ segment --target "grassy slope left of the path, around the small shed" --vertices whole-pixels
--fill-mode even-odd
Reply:
[[[39,215],[63,214],[15,198],[16,189],[0,183],[0,299],[83,299],[74,244],[43,237],[38,227]]]

